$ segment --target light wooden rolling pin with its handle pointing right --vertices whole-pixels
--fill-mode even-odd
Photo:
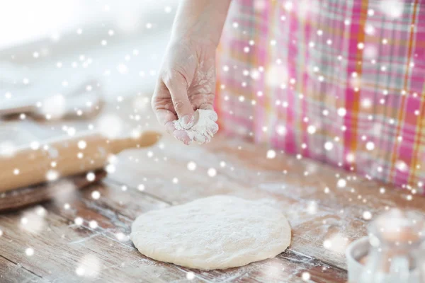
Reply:
[[[109,156],[151,146],[159,137],[157,132],[144,132],[137,138],[108,139],[90,132],[18,148],[12,156],[0,157],[0,192],[95,171],[106,166]]]

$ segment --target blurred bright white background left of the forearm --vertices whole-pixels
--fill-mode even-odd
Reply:
[[[2,4],[0,112],[28,103],[40,107],[44,98],[97,88],[105,100],[150,96],[177,4],[178,0]],[[52,107],[58,105],[60,100]]]

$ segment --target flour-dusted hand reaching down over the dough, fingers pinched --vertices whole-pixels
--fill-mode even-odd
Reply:
[[[201,40],[172,42],[167,48],[152,98],[152,108],[159,122],[167,132],[189,144],[188,134],[183,129],[176,129],[174,121],[181,119],[185,128],[190,129],[194,110],[213,110],[214,97],[215,45]]]

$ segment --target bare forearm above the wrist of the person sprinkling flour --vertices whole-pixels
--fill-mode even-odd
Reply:
[[[217,46],[230,1],[181,0],[171,40],[196,39]]]

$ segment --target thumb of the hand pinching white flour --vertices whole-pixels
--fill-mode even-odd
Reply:
[[[170,79],[164,80],[164,83],[169,89],[174,110],[176,110],[177,116],[182,122],[181,125],[185,129],[190,129],[193,126],[194,111],[188,98],[186,78],[179,72],[174,72]]]

